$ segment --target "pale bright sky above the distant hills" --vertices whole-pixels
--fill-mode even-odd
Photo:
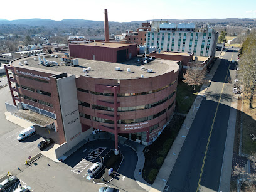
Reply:
[[[41,3],[40,3],[41,2]],[[88,19],[109,21],[142,21],[151,19],[255,18],[256,0],[57,0],[10,1],[0,11],[0,19]],[[4,4],[4,3],[2,3]]]

